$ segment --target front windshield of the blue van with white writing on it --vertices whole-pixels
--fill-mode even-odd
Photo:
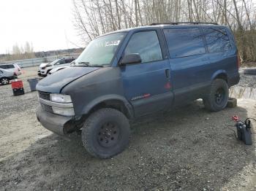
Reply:
[[[108,34],[91,41],[73,66],[109,66],[125,32]]]

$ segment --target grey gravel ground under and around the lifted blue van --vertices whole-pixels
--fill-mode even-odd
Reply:
[[[99,160],[76,133],[66,141],[37,122],[37,93],[26,82],[35,73],[21,77],[25,95],[0,86],[0,190],[256,190],[255,144],[237,141],[228,127],[234,114],[256,117],[256,101],[238,99],[221,112],[195,101],[137,120],[129,148]],[[240,86],[254,85],[244,78]]]

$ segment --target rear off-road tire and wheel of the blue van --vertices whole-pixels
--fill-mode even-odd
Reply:
[[[211,112],[219,112],[227,106],[228,97],[229,90],[227,82],[224,79],[214,79],[208,95],[203,98],[203,104]]]

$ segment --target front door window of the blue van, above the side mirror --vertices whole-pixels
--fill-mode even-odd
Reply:
[[[162,60],[162,51],[156,31],[138,32],[129,40],[125,55],[138,53],[142,63]]]

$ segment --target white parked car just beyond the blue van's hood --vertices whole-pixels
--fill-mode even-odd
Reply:
[[[59,66],[69,66],[72,61],[75,61],[75,58],[60,58],[52,63],[41,63],[37,73],[41,77],[46,77],[51,69],[55,69]]]

